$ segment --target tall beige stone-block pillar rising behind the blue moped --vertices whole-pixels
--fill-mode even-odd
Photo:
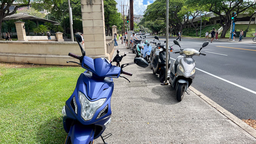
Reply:
[[[103,0],[81,0],[81,11],[86,55],[109,59],[106,51]]]

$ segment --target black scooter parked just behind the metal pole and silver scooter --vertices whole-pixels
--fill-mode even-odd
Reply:
[[[159,41],[158,36],[155,39]],[[165,42],[164,42],[165,43]],[[153,70],[153,74],[159,74],[160,82],[165,80],[165,60],[166,60],[166,49],[165,45],[159,41],[155,47],[152,48],[150,53],[150,68]],[[172,48],[168,46],[168,50],[172,51]],[[170,68],[171,60],[170,53],[168,53],[168,69]]]

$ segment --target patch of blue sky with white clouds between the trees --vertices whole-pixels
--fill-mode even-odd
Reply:
[[[129,8],[130,5],[130,0],[116,0],[116,2],[118,3],[117,8],[119,10],[119,12],[121,12],[121,1],[122,4],[125,3],[125,5],[128,4],[127,6],[127,10]],[[147,9],[147,6],[150,5],[151,3],[153,3],[155,0],[134,0],[133,1],[133,13],[134,14],[142,14],[145,11],[145,9]],[[126,6],[125,6],[125,11],[126,11]],[[126,14],[126,12],[125,12]]]

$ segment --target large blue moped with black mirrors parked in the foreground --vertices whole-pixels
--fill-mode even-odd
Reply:
[[[82,41],[80,34],[75,34],[75,37],[82,56],[69,53],[69,56],[78,59],[80,63],[68,62],[77,63],[86,71],[80,74],[73,94],[62,108],[63,126],[68,133],[65,144],[92,144],[98,137],[107,144],[105,139],[112,134],[102,136],[102,133],[111,121],[110,101],[114,89],[112,78],[123,77],[120,74],[132,76],[131,73],[123,71],[123,68],[134,63],[145,68],[148,63],[140,57],[134,58],[132,63],[117,67],[105,58],[92,59],[86,56],[80,45]],[[123,56],[117,54],[112,62],[117,62],[119,65],[122,58]]]

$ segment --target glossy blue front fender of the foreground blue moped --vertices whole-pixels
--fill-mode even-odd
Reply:
[[[70,127],[65,144],[71,140],[72,144],[90,144],[94,139],[94,128],[82,124],[74,124]]]

